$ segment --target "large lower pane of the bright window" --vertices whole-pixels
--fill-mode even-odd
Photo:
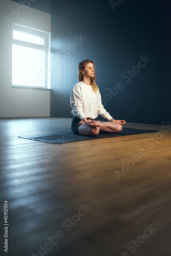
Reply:
[[[45,51],[12,45],[12,84],[46,87]]]

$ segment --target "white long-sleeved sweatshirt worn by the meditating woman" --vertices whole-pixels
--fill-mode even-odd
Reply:
[[[98,115],[108,120],[112,118],[101,103],[100,91],[94,93],[92,87],[83,82],[75,84],[70,96],[70,105],[71,113],[81,120],[84,117],[95,119]]]

